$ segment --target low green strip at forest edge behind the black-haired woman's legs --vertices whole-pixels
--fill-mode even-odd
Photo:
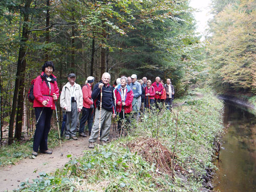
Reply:
[[[57,130],[51,130],[48,136],[48,147],[54,148],[59,145]],[[33,141],[17,142],[14,141],[11,145],[4,145],[0,148],[0,166],[15,164],[21,159],[31,156]]]

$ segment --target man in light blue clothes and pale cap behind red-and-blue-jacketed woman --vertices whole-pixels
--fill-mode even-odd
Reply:
[[[140,110],[141,105],[141,85],[139,82],[137,82],[137,75],[133,74],[131,76],[132,83],[130,84],[131,90],[133,91],[134,98],[133,98],[133,111],[138,112]],[[137,105],[135,106],[135,103],[137,101]]]

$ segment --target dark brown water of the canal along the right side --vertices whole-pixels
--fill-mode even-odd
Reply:
[[[222,137],[216,166],[214,191],[256,191],[256,118],[252,113],[225,102],[224,124],[230,124]]]

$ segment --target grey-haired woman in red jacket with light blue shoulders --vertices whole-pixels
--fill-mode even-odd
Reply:
[[[133,109],[133,91],[130,86],[127,85],[127,77],[121,77],[121,84],[115,89],[116,95],[116,111],[119,112],[118,131],[121,132],[122,119],[125,119]],[[129,122],[129,120],[127,120]]]

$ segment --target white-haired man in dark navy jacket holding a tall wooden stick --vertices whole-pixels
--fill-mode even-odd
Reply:
[[[101,81],[95,84],[92,99],[94,100],[95,105],[95,119],[92,127],[91,136],[89,138],[89,148],[94,148],[94,143],[97,140],[99,135],[99,116],[101,113],[101,135],[100,143],[105,145],[106,141],[109,140],[110,135],[110,126],[111,126],[111,117],[116,116],[115,112],[115,99],[113,88],[109,84],[110,74],[103,73]],[[100,90],[102,89],[102,107],[100,112]]]

